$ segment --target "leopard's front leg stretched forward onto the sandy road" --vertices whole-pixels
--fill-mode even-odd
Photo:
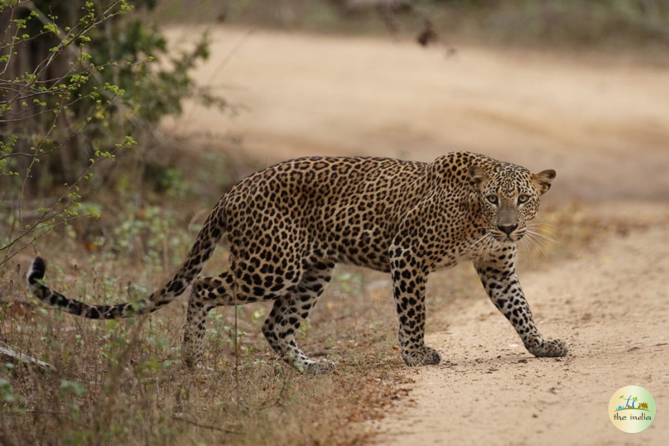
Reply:
[[[515,257],[516,248],[507,248],[475,262],[483,288],[494,306],[516,329],[528,352],[537,357],[565,356],[569,345],[563,340],[544,338],[535,326],[530,306],[518,282]]]

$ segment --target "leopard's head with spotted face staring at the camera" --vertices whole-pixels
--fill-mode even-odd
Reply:
[[[492,170],[471,166],[469,176],[480,199],[482,226],[500,243],[517,243],[537,216],[541,195],[551,189],[555,171],[533,174],[504,163]]]

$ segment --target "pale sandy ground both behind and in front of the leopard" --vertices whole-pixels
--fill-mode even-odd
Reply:
[[[172,29],[183,43],[197,29]],[[483,152],[556,169],[545,205],[596,203],[602,219],[656,220],[521,277],[546,336],[569,356],[535,359],[483,294],[456,301],[429,342],[440,366],[407,368],[409,397],[365,426],[379,444],[661,444],[669,437],[669,71],[612,57],[391,39],[214,29],[203,84],[240,104],[189,106],[168,133],[241,137],[267,164],[312,154],[432,160]],[[586,207],[587,209],[587,207]],[[432,327],[432,330],[436,328]],[[617,431],[613,393],[644,386],[658,420]]]

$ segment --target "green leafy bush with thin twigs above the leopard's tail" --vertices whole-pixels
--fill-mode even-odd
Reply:
[[[0,0],[0,265],[56,227],[97,217],[82,191],[114,190],[118,180],[137,189],[145,160],[158,157],[159,120],[179,114],[184,98],[225,105],[189,76],[208,56],[207,36],[172,56],[134,8]],[[179,175],[157,181],[164,189]]]

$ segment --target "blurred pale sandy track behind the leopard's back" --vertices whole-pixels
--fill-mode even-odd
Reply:
[[[169,35],[183,42],[199,31]],[[468,45],[449,57],[413,41],[270,31],[213,29],[211,41],[196,76],[240,113],[190,107],[166,123],[171,132],[239,135],[268,163],[470,150],[556,169],[565,195],[666,199],[669,191],[666,68]]]

